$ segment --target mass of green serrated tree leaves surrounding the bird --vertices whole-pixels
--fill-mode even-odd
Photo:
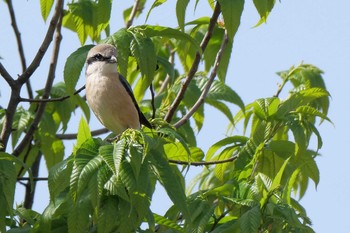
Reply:
[[[259,26],[275,1],[253,2]],[[165,3],[153,1],[146,18]],[[317,123],[331,122],[322,71],[300,64],[279,72],[281,85],[275,95],[245,105],[225,84],[245,3],[209,4],[211,17],[187,22],[189,1],[178,0],[178,28],[132,26],[147,6],[145,0],[137,0],[123,12],[126,27],[110,33],[111,0],[66,5],[40,1],[43,19],[52,14],[50,27],[59,34],[62,23],[77,34],[82,47],[66,59],[64,82],[53,84],[54,75],[49,76],[45,89],[31,99],[20,98],[18,90],[29,84],[35,69],[25,68],[14,79],[0,66],[12,95],[18,97],[11,98],[7,111],[0,109],[1,232],[313,232],[299,199],[310,181],[315,186],[320,181],[315,159],[323,141]],[[90,131],[85,120],[90,119],[89,108],[76,91],[93,46],[86,44],[88,38],[117,47],[118,69],[134,87],[148,118],[154,111],[154,129],[128,129],[114,142]],[[46,43],[40,50],[43,54]],[[60,40],[54,43],[59,45]],[[175,66],[174,60],[180,65]],[[145,98],[151,84],[156,93],[152,100]],[[288,85],[288,97],[281,98]],[[24,101],[29,107],[20,105]],[[232,104],[240,109],[237,113]],[[205,153],[197,147],[196,133],[203,126],[207,105],[245,133],[229,135]],[[67,152],[66,130],[74,124],[72,113],[78,111],[84,117],[74,149]],[[43,213],[32,210],[28,200],[13,207],[16,182],[27,180],[30,193],[42,156],[49,169],[49,205]],[[184,174],[198,165],[205,167],[187,185]],[[164,215],[150,208],[158,201],[152,199],[157,182],[173,202]]]

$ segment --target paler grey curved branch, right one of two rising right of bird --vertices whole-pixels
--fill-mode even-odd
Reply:
[[[175,128],[179,128],[180,126],[185,124],[192,117],[192,115],[198,110],[198,108],[204,103],[205,97],[208,95],[209,89],[210,89],[211,85],[213,84],[213,81],[216,77],[216,73],[217,73],[217,70],[219,68],[220,61],[221,61],[222,55],[224,54],[227,43],[228,43],[228,35],[227,35],[227,31],[225,30],[224,38],[221,42],[220,49],[219,49],[219,51],[216,55],[216,58],[215,58],[214,67],[210,73],[209,80],[206,83],[204,90],[202,91],[202,94],[198,98],[197,102],[187,112],[187,114],[174,124]]]

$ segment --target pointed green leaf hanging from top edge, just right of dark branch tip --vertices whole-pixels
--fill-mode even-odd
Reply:
[[[241,23],[244,0],[218,0],[228,37],[232,41]]]

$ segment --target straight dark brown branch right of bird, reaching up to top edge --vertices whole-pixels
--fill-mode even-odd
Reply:
[[[205,33],[204,38],[203,38],[203,40],[202,40],[202,42],[200,44],[202,53],[204,52],[204,50],[206,49],[206,47],[207,47],[207,45],[209,43],[209,40],[210,40],[210,38],[212,36],[213,30],[215,28],[215,25],[216,25],[216,22],[218,20],[219,15],[220,15],[220,12],[221,12],[220,11],[220,4],[217,2],[216,5],[215,5],[215,9],[214,9],[213,15],[210,18],[210,22],[209,22],[209,25],[208,25],[208,30]],[[199,66],[200,61],[201,61],[201,53],[198,51],[196,53],[195,59],[194,59],[193,64],[192,64],[192,67],[188,71],[188,74],[187,74],[187,77],[186,77],[185,81],[182,83],[182,86],[181,86],[181,89],[180,89],[179,93],[177,94],[175,100],[173,101],[173,103],[170,106],[167,114],[164,117],[165,121],[170,122],[171,119],[173,118],[173,116],[174,116],[174,114],[176,112],[176,109],[178,108],[178,106],[180,105],[180,102],[182,101],[182,99],[185,96],[185,92],[187,90],[187,87],[190,85],[190,82],[192,81],[194,75],[196,74],[196,72],[198,70],[198,66]]]

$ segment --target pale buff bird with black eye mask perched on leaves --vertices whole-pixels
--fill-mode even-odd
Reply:
[[[93,47],[86,59],[86,99],[100,122],[116,134],[128,128],[152,128],[132,89],[117,71],[117,50],[109,44]]]

